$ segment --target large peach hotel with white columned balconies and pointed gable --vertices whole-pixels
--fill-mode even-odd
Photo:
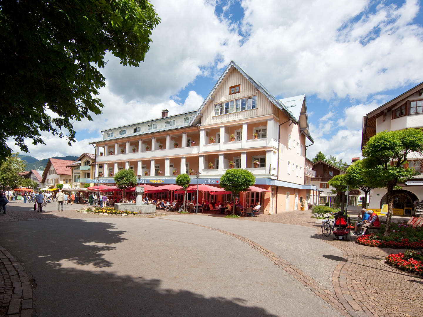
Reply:
[[[200,173],[199,183],[219,185],[229,168],[247,169],[264,194],[265,213],[316,203],[306,181],[308,130],[305,95],[277,100],[233,61],[199,109],[102,131],[91,183],[113,184],[120,169],[133,169],[140,183],[175,183],[176,175]],[[99,155],[104,153],[104,155]],[[308,175],[308,173],[307,173]]]

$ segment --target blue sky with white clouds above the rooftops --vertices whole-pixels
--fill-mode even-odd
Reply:
[[[104,128],[198,109],[234,60],[277,98],[305,94],[310,133],[344,161],[360,156],[361,118],[422,82],[422,5],[408,1],[154,0],[162,19],[139,68],[107,54],[103,115],[74,125],[78,142],[49,134],[30,155],[93,152]],[[8,143],[16,148],[13,142]]]

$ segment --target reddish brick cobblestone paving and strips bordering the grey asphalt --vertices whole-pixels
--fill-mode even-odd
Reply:
[[[92,213],[77,213],[81,205],[65,205],[63,212],[56,210],[55,202],[48,204],[43,213],[34,212],[32,205],[23,202],[10,202],[8,213],[0,214],[0,223],[4,221],[41,220],[48,218],[111,218],[116,215],[97,215]],[[165,214],[176,215],[175,212]],[[181,221],[184,221],[184,214]],[[199,214],[201,216],[216,216]],[[140,217],[136,217],[140,218]],[[166,217],[164,217],[165,219]],[[332,240],[324,237],[320,231],[320,221],[310,218],[310,211],[295,211],[275,215],[260,215],[255,218],[242,218],[241,221],[266,221],[283,224],[295,224],[316,228],[316,234],[311,238],[323,239],[343,252],[343,258],[334,258],[340,261],[332,276],[332,285],[335,292],[325,290],[319,283],[313,281],[306,273],[291,265],[277,254],[266,250],[254,241],[231,232],[222,233],[238,238],[250,244],[258,252],[264,254],[283,270],[290,273],[295,279],[308,287],[316,295],[323,298],[338,312],[345,316],[423,316],[423,279],[419,276],[399,271],[384,263],[390,253],[398,253],[401,249],[372,248],[357,245],[353,241]],[[198,225],[198,224],[197,224]],[[204,226],[203,226],[204,227]],[[29,317],[32,312],[32,291],[30,280],[22,265],[0,247],[0,271],[3,281],[0,281],[0,295],[3,302],[0,309],[2,316]]]

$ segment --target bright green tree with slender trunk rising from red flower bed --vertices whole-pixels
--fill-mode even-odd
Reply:
[[[423,130],[408,128],[397,131],[382,131],[371,137],[363,148],[366,179],[376,180],[386,187],[388,214],[385,236],[389,235],[393,203],[393,190],[398,182],[405,182],[417,175],[414,169],[403,166],[407,156],[423,150]]]

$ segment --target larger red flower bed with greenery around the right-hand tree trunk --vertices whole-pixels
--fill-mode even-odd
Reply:
[[[380,230],[379,233],[358,237],[356,243],[380,248],[423,249],[423,229],[421,227],[413,228],[400,223],[392,224],[392,228],[393,230],[387,237],[384,236],[384,230]]]

